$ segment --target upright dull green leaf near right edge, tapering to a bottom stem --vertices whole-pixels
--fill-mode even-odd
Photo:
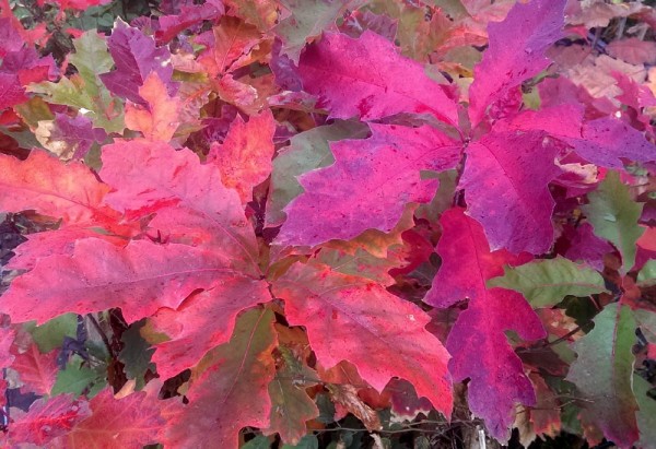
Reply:
[[[645,229],[637,224],[643,204],[631,199],[620,175],[608,172],[599,188],[588,193],[589,204],[582,208],[595,234],[612,243],[622,253],[623,272],[635,264],[635,243]]]

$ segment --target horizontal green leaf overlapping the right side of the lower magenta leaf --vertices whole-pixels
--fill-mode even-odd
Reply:
[[[554,306],[567,295],[588,296],[606,291],[599,273],[562,257],[505,267],[504,275],[488,281],[488,287],[519,292],[532,307]]]

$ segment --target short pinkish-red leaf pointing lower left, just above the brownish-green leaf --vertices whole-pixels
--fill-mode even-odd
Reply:
[[[234,273],[220,276],[215,288],[186,299],[177,309],[160,309],[151,324],[171,339],[155,346],[153,362],[160,376],[166,379],[195,366],[208,351],[230,340],[239,311],[270,299],[266,283]]]

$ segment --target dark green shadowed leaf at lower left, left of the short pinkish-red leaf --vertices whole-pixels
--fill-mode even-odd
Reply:
[[[155,350],[141,336],[141,328],[145,326],[145,319],[131,324],[126,330],[120,340],[124,342],[124,348],[118,354],[118,359],[124,363],[128,379],[137,380],[137,389],[141,390],[145,386],[143,376],[150,368],[153,373],[155,364],[151,357]]]

